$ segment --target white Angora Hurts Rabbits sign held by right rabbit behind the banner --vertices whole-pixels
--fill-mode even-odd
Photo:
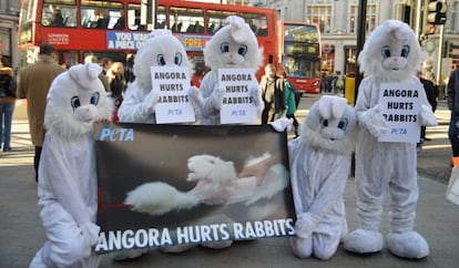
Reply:
[[[254,69],[218,69],[218,86],[225,89],[222,124],[251,124],[257,120],[252,89],[258,86]]]

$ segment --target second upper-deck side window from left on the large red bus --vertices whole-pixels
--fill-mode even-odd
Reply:
[[[113,29],[122,17],[123,3],[112,1],[81,1],[81,25],[84,28]]]

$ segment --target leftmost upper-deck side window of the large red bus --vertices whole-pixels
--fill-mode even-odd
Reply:
[[[76,27],[76,6],[74,1],[45,0],[41,12],[44,27]]]

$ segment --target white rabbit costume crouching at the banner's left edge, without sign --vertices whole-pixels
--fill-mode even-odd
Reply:
[[[113,103],[86,63],[70,68],[48,94],[38,184],[40,217],[47,243],[30,267],[96,267],[91,247],[99,241],[93,122],[110,118]]]

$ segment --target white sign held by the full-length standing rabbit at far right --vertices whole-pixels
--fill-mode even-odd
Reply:
[[[422,85],[411,83],[382,83],[379,103],[389,124],[379,142],[418,143],[420,138],[419,113],[422,104]]]

